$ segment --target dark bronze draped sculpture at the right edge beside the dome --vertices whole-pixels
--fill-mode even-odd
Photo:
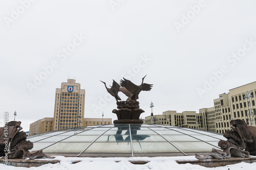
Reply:
[[[236,119],[230,121],[230,128],[224,133],[227,140],[220,140],[219,147],[223,150],[212,149],[212,152],[199,156],[196,154],[197,159],[207,158],[230,158],[233,157],[249,157],[249,155],[256,156],[256,127],[247,126],[244,120]]]

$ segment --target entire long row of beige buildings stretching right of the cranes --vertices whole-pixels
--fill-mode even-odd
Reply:
[[[245,97],[245,92],[250,91],[249,101]],[[231,119],[242,119],[247,125],[251,125],[249,102],[252,112],[253,126],[255,126],[255,97],[256,82],[252,82],[229,90],[229,93],[219,95],[214,100],[214,107],[199,109],[195,111],[165,111],[163,115],[154,115],[153,124],[187,127],[202,129],[211,132],[225,133],[230,130]],[[152,117],[145,117],[146,124],[152,124]]]

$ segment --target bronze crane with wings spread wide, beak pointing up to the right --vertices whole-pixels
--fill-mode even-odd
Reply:
[[[142,78],[142,83],[139,86],[135,85],[130,80],[127,80],[124,78],[123,78],[123,80],[121,80],[120,85],[122,87],[125,87],[127,90],[129,90],[133,94],[131,97],[132,100],[136,101],[137,99],[139,99],[139,93],[141,91],[149,91],[152,89],[153,84],[143,83],[145,77]]]

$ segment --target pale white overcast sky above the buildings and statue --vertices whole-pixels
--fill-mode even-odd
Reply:
[[[154,114],[212,107],[219,94],[256,81],[255,8],[233,0],[1,1],[0,125],[15,110],[25,131],[52,117],[55,89],[68,74],[86,90],[86,117],[116,119],[115,99],[100,100],[107,93],[99,80],[139,85],[145,75],[154,86],[139,95],[141,117],[151,101]]]

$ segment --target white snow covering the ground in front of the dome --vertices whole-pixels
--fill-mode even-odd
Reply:
[[[141,170],[141,169],[173,169],[173,170],[183,170],[183,169],[218,169],[218,170],[236,170],[236,169],[246,169],[252,170],[255,169],[255,163],[238,163],[233,165],[226,165],[221,167],[212,167],[206,168],[200,165],[193,165],[193,164],[178,164],[176,160],[197,160],[195,156],[180,156],[180,157],[130,157],[130,158],[77,158],[77,157],[63,157],[57,156],[57,160],[60,160],[60,163],[56,164],[46,164],[39,167],[14,167],[8,166],[4,164],[0,164],[0,169],[2,170],[71,170],[71,169],[91,169],[94,170],[98,169],[118,169],[118,170]],[[132,164],[129,161],[150,161],[146,164]],[[77,163],[72,163],[74,161],[80,161]]]

